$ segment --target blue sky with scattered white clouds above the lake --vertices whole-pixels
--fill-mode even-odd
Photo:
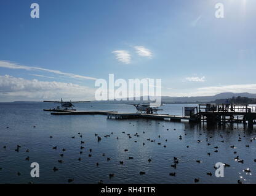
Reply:
[[[0,1],[0,102],[94,100],[109,74],[161,79],[162,96],[256,93],[255,10],[255,0]]]

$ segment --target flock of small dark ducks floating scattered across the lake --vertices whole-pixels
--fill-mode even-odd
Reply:
[[[129,123],[129,124],[131,124],[131,123]],[[160,124],[160,123],[158,123],[158,124]],[[133,126],[134,126],[134,125],[133,125]],[[36,128],[36,126],[33,126],[33,127]],[[162,126],[162,127],[164,127],[164,126]],[[9,127],[6,127],[6,128],[9,129]],[[166,129],[166,130],[169,130],[169,129]],[[174,130],[176,130],[176,129],[174,129]],[[206,133],[206,130],[204,130],[203,132]],[[122,131],[121,134],[127,135],[127,138],[128,138],[128,139],[130,139],[130,138],[132,138],[132,137],[134,137],[134,138],[140,137],[140,135],[139,135],[138,133],[129,134],[129,133],[127,133],[126,131]],[[143,131],[142,134],[145,134],[145,131]],[[243,134],[243,135],[241,135],[241,133],[238,134],[238,141],[242,141],[242,137],[245,137],[245,132],[242,132],[242,134]],[[108,137],[111,137],[112,135],[115,135],[115,134],[113,134],[113,132],[111,132],[109,135],[94,134],[94,136],[97,138],[97,141],[98,141],[98,142],[100,142],[101,140],[103,140],[103,138],[108,138]],[[200,135],[202,135],[202,134],[200,134]],[[81,155],[81,154],[84,153],[83,150],[85,149],[85,146],[84,146],[84,145],[85,145],[86,141],[84,141],[84,140],[82,139],[82,133],[81,133],[81,132],[78,132],[77,135],[70,136],[71,139],[74,139],[74,138],[76,138],[76,137],[80,138],[80,139],[79,139],[79,145],[80,145],[79,154]],[[182,140],[183,137],[186,137],[186,129],[184,129],[184,134],[183,134],[183,136],[180,135],[180,136],[178,137],[178,140]],[[220,137],[220,138],[223,138],[223,135],[220,134],[219,137]],[[50,135],[49,138],[53,138],[53,136]],[[158,138],[161,138],[161,135],[158,135]],[[211,145],[211,143],[210,143],[210,138],[212,138],[212,136],[209,136],[209,137],[206,138],[207,146],[210,146],[210,145]],[[119,137],[116,137],[116,140],[119,140]],[[161,142],[157,142],[156,140],[157,140],[157,138],[146,138],[146,140],[142,142],[142,145],[145,146],[145,145],[146,145],[146,142],[151,142],[151,143],[157,143],[157,145],[163,146],[163,148],[166,148],[166,147],[167,147],[167,146],[166,146],[166,145],[167,145],[167,139],[164,139],[164,141],[166,141],[166,143],[165,143],[164,145],[163,145]],[[254,138],[251,138],[251,139],[250,139],[250,142],[252,143],[252,141],[254,141],[254,140],[256,140],[255,137],[254,137]],[[134,142],[137,143],[138,141],[135,139]],[[195,141],[195,142],[201,143],[201,142],[203,142],[203,141],[197,140],[197,141]],[[221,140],[220,142],[224,143],[225,140],[223,139],[223,140]],[[246,148],[249,148],[249,147],[250,147],[250,145],[245,145],[245,146],[246,146]],[[3,146],[3,148],[6,149],[7,146]],[[187,145],[186,148],[190,148],[190,146]],[[231,145],[230,148],[236,149],[236,147],[235,147],[234,145]],[[20,149],[22,149],[22,146],[17,145],[17,148],[14,149],[14,151],[19,152]],[[61,151],[62,151],[62,153],[59,155],[60,158],[57,160],[57,162],[58,162],[59,164],[63,164],[62,157],[64,156],[66,149],[65,149],[65,148],[62,148],[62,147],[59,147],[59,146],[54,146],[54,147],[52,147],[52,150],[56,150],[56,149],[61,149]],[[90,149],[89,149],[88,157],[91,157],[91,156],[92,156],[92,151],[93,151],[93,150],[90,148]],[[124,152],[127,152],[127,151],[129,151],[129,149],[124,149]],[[30,152],[30,149],[25,149],[25,152],[26,152],[26,153],[29,153],[29,152]],[[214,146],[214,153],[218,153],[218,146]],[[237,154],[237,151],[234,150],[233,153],[234,153],[234,154]],[[210,156],[210,155],[211,155],[210,152],[207,153],[207,156]],[[106,154],[105,154],[105,153],[102,153],[102,156],[106,156]],[[129,156],[129,157],[127,157],[127,158],[128,158],[128,159],[134,159],[134,157],[132,157],[132,156]],[[149,159],[148,159],[148,163],[150,163],[150,162],[152,161],[152,159],[153,159],[153,158],[149,158]],[[174,157],[172,157],[172,158],[170,158],[170,159],[172,159],[172,161],[173,161],[172,163],[170,163],[170,167],[174,168],[174,170],[175,170],[175,169],[177,168],[177,165],[179,164],[181,158],[174,156]],[[26,157],[25,157],[25,160],[29,161],[29,160],[30,160],[30,156],[26,156]],[[81,160],[82,160],[81,156],[78,156],[78,161],[80,162]],[[110,161],[110,160],[111,160],[111,157],[106,156],[106,161],[108,162],[108,161]],[[244,160],[241,159],[238,155],[236,155],[236,157],[234,157],[234,160],[237,161],[237,162],[239,162],[239,163],[241,163],[241,164],[244,164]],[[202,162],[202,160],[196,160],[196,162],[197,162],[198,164],[200,164],[200,163]],[[256,159],[254,159],[254,162],[256,162]],[[124,160],[119,160],[119,164],[123,165],[123,164],[124,164]],[[99,165],[100,165],[100,162],[96,162],[96,163],[95,163],[95,166],[96,166],[96,167],[98,167]],[[230,164],[227,164],[227,163],[223,163],[223,166],[224,166],[224,167],[230,167],[231,165],[230,165]],[[214,166],[214,168],[217,169],[215,166]],[[2,168],[0,167],[0,171],[1,171],[1,170],[2,170]],[[52,170],[53,170],[54,172],[57,172],[57,171],[58,171],[58,167],[57,167],[57,166],[54,166],[54,167],[52,168]],[[245,168],[244,171],[247,172],[247,173],[250,173],[250,168]],[[17,175],[20,176],[20,175],[22,175],[22,174],[20,173],[20,171],[17,171]],[[145,171],[138,171],[138,175],[146,175],[146,172],[145,172]],[[213,173],[212,173],[212,172],[207,172],[206,175],[212,176]],[[113,178],[113,177],[115,176],[115,174],[114,174],[114,173],[109,173],[108,176],[109,176],[109,178]],[[174,176],[174,177],[175,177],[175,176],[177,176],[177,172],[171,172],[171,173],[169,173],[169,176]],[[68,179],[67,179],[67,182],[68,182],[68,183],[72,183],[73,181],[74,181],[74,178],[68,178]],[[199,181],[200,181],[199,178],[194,178],[194,183],[198,183]],[[238,184],[242,184],[241,179],[238,179],[237,182],[238,182]],[[30,183],[33,183],[33,182],[30,181]],[[99,183],[99,184],[102,184],[102,183],[103,183],[102,179],[100,179],[100,181],[98,181],[98,183]]]

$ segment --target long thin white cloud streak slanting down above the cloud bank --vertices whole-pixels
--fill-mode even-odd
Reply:
[[[70,77],[70,78],[86,79],[86,80],[97,80],[97,78],[65,73],[65,72],[61,72],[60,70],[44,69],[44,68],[41,68],[41,67],[22,66],[22,65],[14,64],[12,62],[7,62],[7,61],[0,61],[0,67],[9,68],[9,69],[38,70],[38,71],[49,72],[49,73],[53,73],[53,74],[57,74],[57,75],[64,75],[64,76]]]

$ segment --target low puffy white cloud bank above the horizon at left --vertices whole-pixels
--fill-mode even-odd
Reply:
[[[0,101],[12,100],[93,100],[94,89],[73,83],[39,81],[0,75]]]

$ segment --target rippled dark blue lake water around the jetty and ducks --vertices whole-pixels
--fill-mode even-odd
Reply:
[[[135,112],[132,105],[125,104],[90,102],[75,105],[77,110]],[[164,111],[161,113],[182,115],[184,106],[195,105],[168,104],[162,106]],[[256,183],[256,141],[252,139],[256,132],[242,124],[222,129],[188,122],[107,119],[104,115],[54,116],[42,111],[53,107],[56,105],[41,102],[0,103],[0,183],[68,183],[69,178],[74,179],[73,183],[98,183],[100,180],[103,183],[194,183],[194,178],[199,178],[199,183],[237,183],[238,179],[243,183]],[[134,136],[136,133],[140,137]],[[98,142],[94,134],[102,140]],[[238,141],[239,137],[241,141]],[[81,145],[81,141],[84,144]],[[15,151],[17,145],[21,146],[19,152]],[[230,148],[231,145],[236,148]],[[52,149],[54,146],[57,149]],[[217,153],[215,146],[218,146]],[[66,151],[63,152],[63,148]],[[89,149],[92,149],[91,153]],[[30,160],[25,160],[28,156]],[[174,156],[178,157],[177,168],[170,167],[174,164]],[[236,156],[243,159],[244,164],[234,160]],[[109,161],[107,157],[110,157]],[[148,159],[152,161],[148,162]],[[31,162],[38,162],[39,178],[31,178]],[[217,162],[230,164],[225,167],[223,178],[214,175]],[[54,171],[54,167],[58,171]],[[251,172],[243,171],[246,168]],[[145,175],[140,175],[140,171],[145,171]],[[176,176],[170,176],[172,172]],[[207,172],[213,175],[209,176]],[[113,178],[109,177],[110,173],[114,173]]]

